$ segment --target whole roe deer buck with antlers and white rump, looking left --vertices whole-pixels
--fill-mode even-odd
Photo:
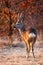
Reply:
[[[24,41],[25,47],[26,47],[26,57],[29,57],[29,52],[30,49],[32,47],[32,53],[33,53],[33,57],[34,56],[34,43],[36,41],[37,38],[37,32],[36,29],[34,28],[30,28],[29,32],[26,31],[25,26],[23,24],[23,19],[22,19],[22,13],[18,14],[18,20],[17,23],[14,25],[14,28],[18,29],[20,32],[20,35]]]

